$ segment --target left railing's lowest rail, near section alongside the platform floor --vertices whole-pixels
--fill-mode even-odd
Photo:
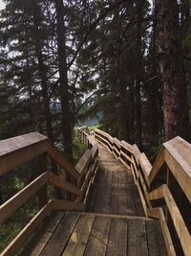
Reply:
[[[45,205],[22,230],[12,240],[5,250],[1,253],[1,256],[15,255],[15,252],[26,242],[32,235],[32,232],[38,227],[38,225],[45,219],[45,217],[51,212],[51,203]]]

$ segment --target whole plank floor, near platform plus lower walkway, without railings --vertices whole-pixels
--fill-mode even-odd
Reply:
[[[100,145],[85,210],[52,214],[21,255],[167,255],[159,221],[144,217],[131,172]]]

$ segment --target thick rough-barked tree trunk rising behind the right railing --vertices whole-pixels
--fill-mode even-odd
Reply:
[[[179,8],[175,0],[157,4],[159,75],[162,82],[165,139],[190,140],[188,104],[179,38]]]

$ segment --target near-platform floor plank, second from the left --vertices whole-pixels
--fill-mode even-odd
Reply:
[[[79,217],[80,214],[78,213],[66,213],[40,256],[61,255],[70,240]]]

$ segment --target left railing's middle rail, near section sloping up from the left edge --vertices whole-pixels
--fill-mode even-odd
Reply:
[[[47,180],[48,172],[35,178],[28,186],[0,205],[0,223],[10,218],[17,209],[47,183]]]

